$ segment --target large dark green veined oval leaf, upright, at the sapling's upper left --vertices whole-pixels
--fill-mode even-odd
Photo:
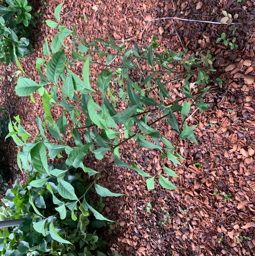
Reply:
[[[58,77],[64,72],[66,55],[64,50],[56,52],[47,64],[46,76],[51,83],[58,83]]]

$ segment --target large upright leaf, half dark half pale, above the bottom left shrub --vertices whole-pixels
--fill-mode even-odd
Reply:
[[[38,142],[30,151],[31,162],[40,173],[49,174],[47,151],[43,142]]]

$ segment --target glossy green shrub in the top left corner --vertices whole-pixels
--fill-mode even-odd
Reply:
[[[5,0],[0,6],[0,62],[13,63],[32,50],[27,28],[31,22],[27,0]]]

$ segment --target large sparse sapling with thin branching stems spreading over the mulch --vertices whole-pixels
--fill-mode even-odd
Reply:
[[[93,203],[89,200],[89,192],[94,189],[100,197],[122,195],[110,192],[98,184],[100,174],[106,169],[111,157],[117,166],[133,169],[145,177],[148,190],[155,188],[155,177],[163,188],[176,189],[176,186],[166,178],[178,177],[172,169],[162,166],[160,173],[152,176],[135,163],[123,162],[120,159],[119,146],[134,139],[140,147],[158,150],[162,156],[164,153],[164,156],[167,156],[173,164],[180,165],[180,161],[185,159],[178,153],[177,144],[180,140],[185,139],[197,142],[193,133],[197,124],[188,125],[187,122],[190,109],[193,106],[200,111],[207,109],[208,103],[203,101],[202,96],[210,90],[209,84],[212,80],[209,78],[208,67],[203,66],[201,62],[198,63],[194,53],[187,55],[187,53],[175,53],[171,50],[157,53],[153,52],[153,45],[144,46],[142,49],[135,45],[135,48],[128,50],[126,45],[117,45],[111,37],[109,37],[109,41],[96,39],[87,42],[86,38],[82,39],[78,35],[74,27],[70,29],[63,26],[60,20],[61,7],[62,4],[55,9],[57,21],[46,20],[49,27],[58,27],[59,33],[52,39],[51,52],[48,38],[43,44],[44,54],[51,57],[49,62],[47,63],[42,58],[36,61],[40,82],[36,83],[28,77],[19,77],[15,88],[18,96],[30,95],[33,100],[35,91],[38,91],[41,96],[44,120],[37,117],[39,134],[32,138],[31,134],[22,127],[20,118],[16,116],[14,122],[9,122],[9,134],[6,138],[11,136],[18,145],[19,168],[29,170],[30,164],[32,164],[36,170],[36,180],[33,180],[35,182],[32,184],[39,183],[39,190],[36,188],[36,194],[34,194],[31,182],[26,185],[25,191],[22,190],[22,197],[28,197],[28,199],[32,193],[29,200],[32,208],[27,209],[27,214],[42,221],[40,225],[44,225],[43,221],[47,223],[45,228],[42,226],[39,228],[39,224],[37,227],[37,224],[33,223],[37,229],[35,236],[36,232],[40,234],[46,232],[49,234],[47,238],[49,243],[60,249],[66,246],[62,245],[63,243],[67,244],[66,250],[73,250],[75,253],[76,248],[74,251],[68,247],[71,242],[69,228],[63,227],[61,224],[67,220],[67,215],[64,215],[64,212],[69,211],[69,216],[73,221],[79,219],[84,213],[85,215],[89,213],[93,214],[96,219],[110,222],[94,209]],[[73,43],[71,60],[67,59],[64,52],[66,45],[63,39],[68,36],[72,37]],[[100,59],[99,62],[98,59]],[[141,69],[137,60],[140,64],[148,64],[150,68]],[[73,72],[73,66],[76,64],[83,65],[82,79]],[[90,77],[91,65],[104,67],[104,70],[95,79]],[[158,68],[156,69],[156,67]],[[177,71],[180,69],[182,71]],[[213,71],[211,65],[209,70]],[[135,81],[135,75],[140,73],[142,75]],[[163,79],[163,75],[175,79]],[[184,97],[172,100],[165,86],[179,80],[183,81],[179,89]],[[195,85],[192,88],[190,80]],[[91,87],[92,83],[97,85],[97,90]],[[110,83],[115,84],[115,87],[110,88]],[[151,85],[151,87],[146,87],[146,85]],[[119,87],[122,90],[119,90],[120,94],[118,95],[115,88]],[[155,96],[160,98],[159,102],[148,95],[151,88],[157,91]],[[101,99],[98,102],[102,104],[98,105],[95,102],[95,96],[97,99]],[[120,102],[117,102],[117,97]],[[51,111],[56,108],[61,109],[62,115],[54,120]],[[178,116],[175,115],[175,112],[178,113]],[[177,121],[177,119],[181,120]],[[169,138],[164,137],[156,129],[156,124],[161,120],[165,120],[170,127],[178,132],[175,146]],[[74,144],[70,144],[67,140],[67,131],[71,134]],[[124,139],[122,139],[123,136]],[[160,141],[164,147],[160,145]],[[93,154],[97,160],[105,158],[102,168],[94,170],[84,164],[84,158],[88,154]],[[48,166],[49,158],[53,161],[56,157],[65,160],[64,167],[52,169]],[[70,171],[72,171],[71,177],[68,174]],[[84,181],[83,185],[80,184],[76,191],[76,179],[73,180],[72,177],[76,177],[80,171],[83,171],[82,174],[86,182]],[[93,181],[87,182],[92,176]],[[81,175],[77,179],[80,180],[84,177]],[[38,199],[36,196],[43,197],[44,194],[52,195],[53,204],[58,209],[55,210],[59,213],[53,209],[47,210],[47,206],[46,210],[42,209],[42,212],[36,209],[36,202],[33,203]],[[49,202],[52,208],[52,201]],[[98,206],[101,211],[104,207],[102,198]],[[17,211],[22,213],[19,212],[19,207]],[[17,217],[18,214],[15,216]],[[171,218],[168,212],[164,218]],[[79,228],[80,224],[77,225]],[[59,232],[61,238],[54,232],[55,227],[60,227],[60,230],[56,232]],[[29,232],[28,229],[27,232]],[[92,232],[92,234],[94,233]],[[19,246],[21,241],[15,243],[15,246]],[[65,255],[64,253],[63,249],[61,255]]]

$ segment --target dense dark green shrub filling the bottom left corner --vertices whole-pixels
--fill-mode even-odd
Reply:
[[[49,174],[29,168],[27,184],[16,181],[2,199],[0,220],[24,223],[0,230],[1,255],[106,256],[100,230],[107,219],[84,196],[84,173],[65,164],[47,168]]]

